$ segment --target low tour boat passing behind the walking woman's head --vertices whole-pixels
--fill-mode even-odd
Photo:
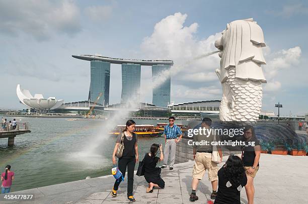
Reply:
[[[115,127],[110,134],[119,135],[123,132],[125,127],[126,125],[117,125],[117,127]],[[158,137],[161,136],[164,131],[155,129],[153,125],[136,125],[134,133],[137,134],[137,136],[142,137]]]

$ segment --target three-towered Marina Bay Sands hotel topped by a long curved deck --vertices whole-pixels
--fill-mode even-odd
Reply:
[[[138,95],[140,90],[141,65],[152,66],[152,80],[162,71],[170,70],[172,60],[135,60],[103,57],[96,55],[72,55],[72,57],[91,62],[91,82],[89,100],[95,101],[100,93],[102,96],[97,101],[104,106],[109,105],[110,64],[122,65],[122,94],[121,103],[131,99],[132,95]],[[158,107],[167,107],[170,103],[171,77],[162,84],[153,87],[152,104]],[[138,98],[139,99],[139,98]]]

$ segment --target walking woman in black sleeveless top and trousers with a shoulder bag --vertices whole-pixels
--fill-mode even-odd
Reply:
[[[116,145],[113,150],[112,154],[112,162],[113,164],[116,164],[116,157],[115,154],[118,150],[119,144],[121,142],[121,137],[123,134],[124,138],[124,150],[122,157],[119,158],[118,160],[118,167],[120,171],[123,174],[123,177],[125,176],[125,171],[127,168],[127,198],[130,201],[136,201],[135,198],[133,197],[133,184],[134,184],[134,169],[135,169],[135,163],[139,160],[139,155],[138,155],[138,144],[137,144],[137,135],[133,133],[135,130],[135,125],[136,123],[133,120],[128,120],[126,122],[126,128],[123,130],[121,134],[119,134]],[[113,189],[111,191],[112,196],[117,196],[117,190],[119,187],[120,182],[122,181],[122,178],[118,178],[114,185]]]

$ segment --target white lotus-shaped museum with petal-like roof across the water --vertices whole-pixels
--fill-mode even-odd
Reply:
[[[60,107],[64,102],[63,99],[57,100],[56,97],[44,98],[40,93],[34,94],[33,97],[30,91],[22,89],[20,84],[17,85],[16,93],[21,103],[31,109],[52,110]]]

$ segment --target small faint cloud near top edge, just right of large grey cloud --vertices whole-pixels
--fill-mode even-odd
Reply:
[[[111,6],[91,6],[85,9],[85,14],[93,21],[104,21],[112,14]]]

